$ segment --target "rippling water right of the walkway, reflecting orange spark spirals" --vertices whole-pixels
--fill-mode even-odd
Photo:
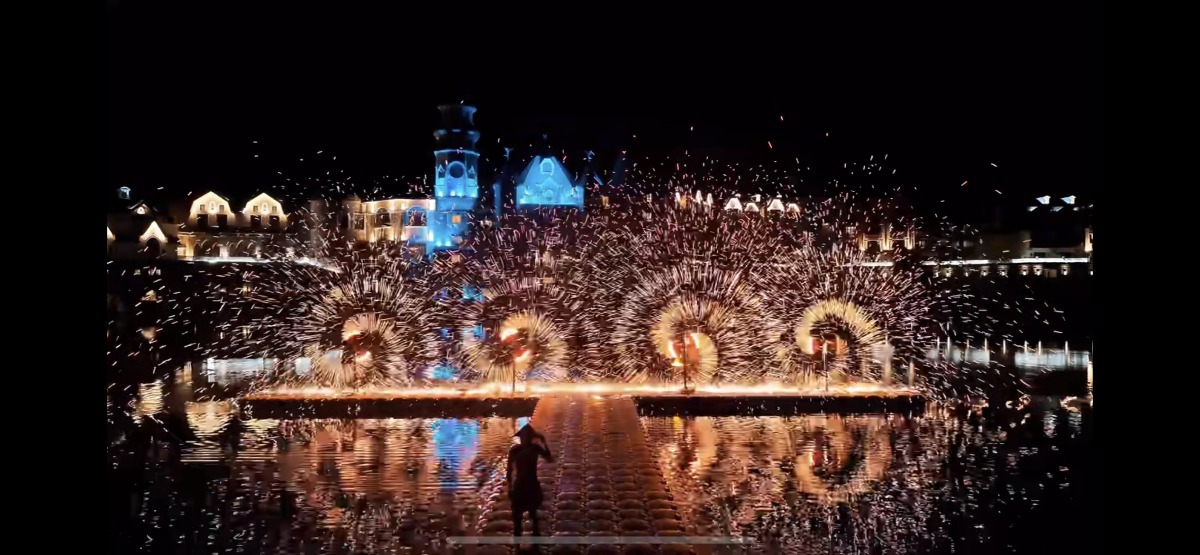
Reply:
[[[1042,402],[1001,426],[938,411],[643,424],[691,533],[782,553],[1042,553],[1039,532],[1091,521],[1090,428]]]

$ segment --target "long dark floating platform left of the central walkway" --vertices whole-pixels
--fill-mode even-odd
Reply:
[[[533,416],[538,399],[247,395],[239,405],[252,418],[521,418]]]

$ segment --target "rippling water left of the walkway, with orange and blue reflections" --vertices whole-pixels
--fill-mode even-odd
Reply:
[[[110,399],[114,553],[181,543],[191,553],[382,553],[470,533],[479,491],[503,481],[521,424],[244,420],[232,401],[193,401],[187,377],[131,388],[128,404]],[[116,417],[122,406],[130,422]]]

